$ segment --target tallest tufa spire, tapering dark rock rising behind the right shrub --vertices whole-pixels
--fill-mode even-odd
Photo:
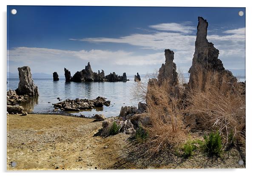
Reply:
[[[192,66],[189,69],[189,88],[198,88],[198,74],[202,74],[203,79],[207,75],[208,71],[218,72],[222,76],[226,76],[229,82],[237,82],[236,77],[233,74],[225,70],[222,61],[218,59],[219,50],[216,49],[213,43],[209,43],[207,40],[207,28],[208,22],[202,17],[198,17],[195,53],[193,55]],[[204,90],[204,84],[199,89]]]

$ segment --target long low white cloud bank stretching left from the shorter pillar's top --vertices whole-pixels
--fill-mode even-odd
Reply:
[[[156,65],[164,61],[164,53],[154,53],[145,55],[134,55],[126,51],[107,51],[107,50],[81,50],[69,51],[50,48],[29,48],[18,47],[9,50],[10,61],[23,61],[25,63],[67,62],[67,61],[97,61],[107,62],[112,65]]]

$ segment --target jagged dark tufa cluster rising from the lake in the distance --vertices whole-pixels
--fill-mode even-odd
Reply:
[[[126,77],[126,73],[122,76],[118,76],[115,72],[105,76],[104,70],[93,72],[91,69],[90,62],[85,66],[82,71],[77,71],[73,77],[71,77],[70,71],[64,68],[66,82],[126,82],[129,79]]]

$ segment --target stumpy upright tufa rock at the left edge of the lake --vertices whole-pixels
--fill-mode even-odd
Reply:
[[[31,70],[28,66],[19,67],[19,85],[16,89],[18,95],[28,95],[29,97],[39,96],[38,87],[34,85]]]

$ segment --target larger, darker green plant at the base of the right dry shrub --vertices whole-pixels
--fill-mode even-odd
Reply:
[[[205,151],[210,156],[220,156],[222,153],[222,139],[219,132],[211,132],[208,136],[204,136],[205,139]]]

